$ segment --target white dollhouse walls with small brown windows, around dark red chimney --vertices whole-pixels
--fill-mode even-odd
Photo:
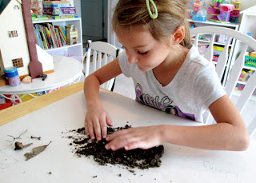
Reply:
[[[0,29],[0,76],[4,75],[4,68],[16,66],[22,79],[30,75],[28,70],[30,54],[22,15],[22,1],[3,0],[0,10],[0,25],[3,25]],[[43,73],[54,72],[52,56],[37,45],[36,50],[38,61],[42,63]]]

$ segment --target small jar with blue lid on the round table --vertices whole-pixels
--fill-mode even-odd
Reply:
[[[10,86],[19,86],[21,81],[19,79],[18,70],[16,67],[6,67],[4,69],[6,78],[8,78],[8,82]]]

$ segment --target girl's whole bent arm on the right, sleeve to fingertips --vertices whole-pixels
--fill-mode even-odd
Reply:
[[[106,138],[106,149],[148,149],[171,143],[198,149],[245,150],[250,136],[238,109],[226,95],[209,107],[217,124],[204,126],[156,125],[120,130]]]

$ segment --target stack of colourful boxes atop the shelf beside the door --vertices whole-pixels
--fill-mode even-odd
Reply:
[[[43,14],[53,19],[60,18],[78,18],[76,9],[67,1],[44,1]]]

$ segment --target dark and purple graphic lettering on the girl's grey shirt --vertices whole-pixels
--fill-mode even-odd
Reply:
[[[195,120],[194,114],[182,113],[178,106],[172,105],[173,101],[168,96],[162,97],[162,99],[160,99],[159,96],[156,96],[155,98],[151,97],[149,94],[143,93],[142,86],[139,83],[135,86],[135,93],[136,100],[144,105],[150,105],[151,107],[162,110],[166,113]]]

